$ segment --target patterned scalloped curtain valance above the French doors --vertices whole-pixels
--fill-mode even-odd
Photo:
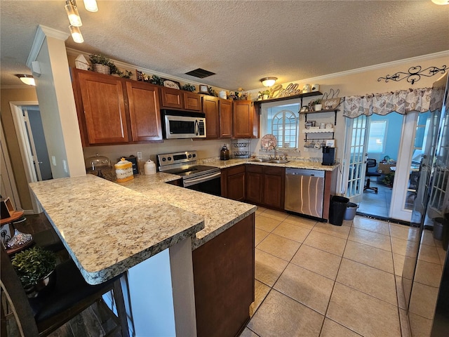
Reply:
[[[385,115],[390,112],[407,114],[410,111],[427,112],[432,88],[417,88],[389,93],[375,93],[344,98],[343,116],[356,118],[361,114]]]

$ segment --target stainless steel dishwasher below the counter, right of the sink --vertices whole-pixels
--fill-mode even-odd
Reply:
[[[286,169],[286,211],[322,218],[323,197],[324,171]]]

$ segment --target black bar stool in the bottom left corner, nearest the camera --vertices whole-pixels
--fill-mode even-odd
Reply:
[[[56,280],[52,289],[46,289],[36,298],[27,298],[11,259],[1,247],[1,290],[6,293],[8,305],[11,306],[22,336],[48,336],[95,302],[107,308],[102,302],[102,295],[112,290],[118,315],[114,315],[107,308],[116,322],[116,327],[106,336],[121,331],[123,337],[129,337],[128,319],[120,284],[123,275],[102,284],[90,285],[84,281],[73,260],[60,263],[56,266],[55,272]],[[1,308],[1,313],[3,316],[4,308]]]

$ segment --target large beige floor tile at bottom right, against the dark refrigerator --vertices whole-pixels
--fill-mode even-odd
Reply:
[[[338,282],[330,296],[326,317],[362,336],[401,337],[395,305]]]

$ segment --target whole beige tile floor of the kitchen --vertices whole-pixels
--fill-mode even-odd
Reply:
[[[241,337],[409,336],[396,296],[408,235],[361,216],[335,226],[258,209],[255,303]]]

